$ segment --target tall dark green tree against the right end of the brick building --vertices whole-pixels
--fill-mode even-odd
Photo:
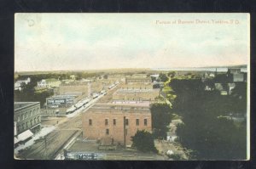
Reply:
[[[166,138],[166,132],[168,132],[168,125],[172,121],[172,109],[169,104],[151,104],[150,111],[152,115],[152,127],[154,131],[154,137]]]

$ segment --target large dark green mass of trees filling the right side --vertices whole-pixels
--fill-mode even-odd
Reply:
[[[246,158],[246,126],[237,127],[224,117],[234,104],[239,105],[241,94],[246,95],[245,87],[238,90],[241,94],[235,91],[233,96],[221,96],[216,91],[204,91],[203,83],[194,79],[172,80],[170,85],[177,94],[173,109],[183,119],[176,132],[184,147],[193,149],[198,160]]]

